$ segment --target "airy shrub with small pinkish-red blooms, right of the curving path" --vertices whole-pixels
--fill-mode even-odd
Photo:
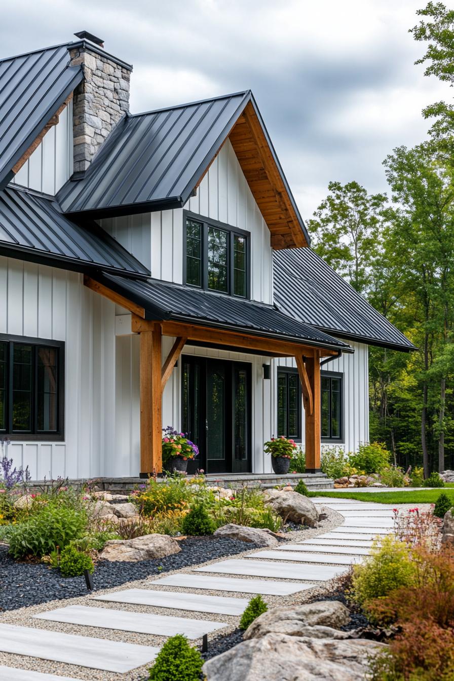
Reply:
[[[441,544],[442,520],[434,516],[434,506],[430,511],[420,511],[418,508],[409,509],[408,513],[394,513],[394,534],[400,541],[409,546],[422,546],[429,551],[435,551]]]

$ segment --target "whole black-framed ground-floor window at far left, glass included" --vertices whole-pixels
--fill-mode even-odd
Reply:
[[[0,334],[1,434],[63,439],[64,347],[55,340]]]

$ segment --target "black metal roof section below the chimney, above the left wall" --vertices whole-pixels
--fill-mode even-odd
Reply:
[[[102,268],[129,276],[150,271],[96,223],[68,219],[52,197],[7,187],[0,192],[0,252],[10,257],[86,270]]]

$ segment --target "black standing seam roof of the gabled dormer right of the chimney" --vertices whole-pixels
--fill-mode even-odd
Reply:
[[[63,210],[106,217],[184,206],[249,102],[309,242],[250,91],[125,116],[101,146],[84,178],[69,180],[59,191]]]

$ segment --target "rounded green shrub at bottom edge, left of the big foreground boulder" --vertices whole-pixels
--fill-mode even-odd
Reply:
[[[169,638],[150,669],[148,681],[199,681],[204,661],[182,634]]]

